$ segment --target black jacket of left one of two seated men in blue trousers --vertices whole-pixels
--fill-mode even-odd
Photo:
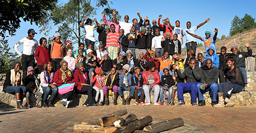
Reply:
[[[197,66],[195,69],[191,69],[190,67],[185,68],[184,72],[181,73],[179,70],[175,70],[178,73],[178,77],[181,79],[186,79],[187,82],[201,82],[202,69]]]

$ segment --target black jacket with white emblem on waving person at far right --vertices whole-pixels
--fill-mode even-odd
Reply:
[[[252,49],[247,48],[248,52],[238,52],[236,55],[231,55],[234,56],[234,65],[237,68],[244,67],[245,68],[245,58],[252,55]]]

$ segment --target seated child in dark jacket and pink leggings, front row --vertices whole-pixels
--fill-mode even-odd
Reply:
[[[118,84],[119,84],[119,75],[116,73],[116,68],[111,68],[111,71],[108,74],[105,80],[105,85],[103,87],[103,93],[106,98],[105,105],[109,105],[108,95],[112,95],[112,91],[114,91],[114,105],[117,105]]]

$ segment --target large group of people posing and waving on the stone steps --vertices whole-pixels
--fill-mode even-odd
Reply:
[[[48,47],[44,37],[38,46],[34,39],[37,33],[29,29],[28,36],[14,46],[21,63],[12,63],[3,91],[15,94],[18,109],[27,109],[31,93],[37,95],[35,107],[54,107],[57,95],[60,103],[68,107],[71,96],[77,93],[88,95],[84,106],[109,105],[109,95],[113,92],[114,105],[118,96],[122,105],[130,105],[133,97],[133,105],[164,105],[164,99],[167,99],[166,105],[174,105],[177,92],[177,106],[185,105],[184,93],[190,93],[193,106],[204,106],[203,94],[209,91],[213,107],[232,107],[231,95],[246,89],[245,58],[252,54],[249,43],[244,43],[248,52],[239,52],[237,46],[221,47],[218,55],[215,49],[217,28],[214,35],[211,30],[206,30],[202,37],[195,35],[210,19],[193,27],[188,21],[183,30],[179,20],[175,21],[175,26],[169,18],[161,23],[162,15],[152,24],[147,16],[142,19],[139,13],[140,21],[134,18],[132,23],[128,15],[124,16],[124,22],[117,20],[114,10],[113,15],[109,22],[102,13],[103,21],[98,23],[94,19],[95,24],[84,18],[79,27],[86,31],[85,44],[79,43],[76,50],[71,40],[62,43],[59,34],[53,36]],[[99,32],[98,49],[95,29]],[[196,55],[196,38],[204,42],[205,56],[203,53]],[[183,42],[187,47],[186,57],[181,57]],[[23,45],[22,53],[18,49],[20,45]],[[40,79],[35,76],[35,59]],[[129,91],[129,96],[125,97],[124,91]],[[150,92],[154,92],[153,101]],[[22,104],[25,96],[27,106]]]

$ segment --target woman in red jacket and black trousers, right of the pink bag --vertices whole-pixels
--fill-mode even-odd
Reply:
[[[91,85],[86,84],[87,74],[84,72],[84,65],[82,62],[78,62],[76,64],[76,72],[75,72],[75,86],[77,86],[78,93],[87,93],[88,98],[86,99],[83,105],[85,106],[96,106],[95,104],[95,95],[96,90],[92,88]]]

